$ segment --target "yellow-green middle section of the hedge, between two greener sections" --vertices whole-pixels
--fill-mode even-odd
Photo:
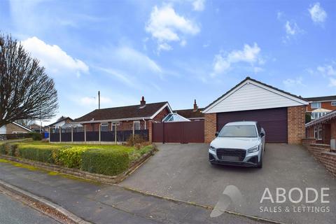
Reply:
[[[53,158],[55,160],[55,163],[58,165],[79,169],[82,161],[81,155],[87,150],[88,148],[83,146],[61,148],[58,151],[55,151]]]

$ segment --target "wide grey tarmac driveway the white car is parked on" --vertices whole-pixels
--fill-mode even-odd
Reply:
[[[160,144],[160,151],[121,185],[212,207],[223,200],[225,188],[233,185],[240,190],[243,202],[232,202],[228,207],[230,211],[283,223],[336,223],[336,180],[302,146],[267,144],[262,169],[211,166],[208,146]],[[285,188],[287,193],[291,188],[300,188],[303,193],[305,188],[318,191],[330,188],[325,198],[330,202],[321,204],[318,197],[315,203],[306,204],[302,200],[294,204],[286,194],[287,200],[283,203],[270,200],[260,203],[265,188],[269,188],[274,201],[276,188]],[[292,196],[297,200],[300,195],[294,190]],[[309,210],[306,207],[302,211],[304,205],[309,206]]]

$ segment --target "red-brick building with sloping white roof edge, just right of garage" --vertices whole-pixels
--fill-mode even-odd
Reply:
[[[336,139],[336,111],[307,123],[306,136],[318,144],[330,144],[331,139]]]

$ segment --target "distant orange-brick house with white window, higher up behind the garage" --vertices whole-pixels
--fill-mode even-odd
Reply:
[[[309,97],[305,99],[309,102],[307,113],[311,114],[311,120],[321,118],[325,114],[336,110],[336,96]]]

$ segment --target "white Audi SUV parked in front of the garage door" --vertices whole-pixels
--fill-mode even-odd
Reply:
[[[265,130],[255,121],[226,124],[209,147],[211,165],[236,165],[262,168]]]

